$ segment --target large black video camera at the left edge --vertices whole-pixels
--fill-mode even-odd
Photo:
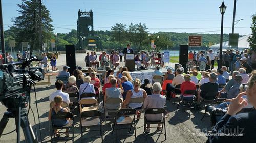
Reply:
[[[0,66],[0,101],[7,108],[16,108],[15,96],[22,95],[22,102],[28,103],[31,84],[44,80],[39,68],[31,67],[32,61],[41,61],[40,56],[22,59],[20,62]]]

